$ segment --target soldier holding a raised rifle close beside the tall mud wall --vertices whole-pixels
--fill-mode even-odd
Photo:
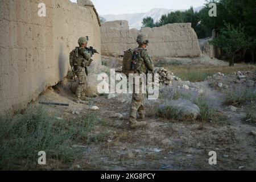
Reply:
[[[71,67],[74,68],[75,75],[77,76],[79,80],[79,86],[76,90],[76,97],[73,101],[77,103],[86,104],[85,102],[87,98],[83,96],[84,90],[87,86],[87,80],[86,77],[88,76],[87,68],[90,63],[92,63],[92,55],[94,52],[90,52],[87,50],[87,43],[88,43],[88,36],[85,38],[79,38],[78,43],[79,47],[76,47],[72,52],[73,53],[72,58],[70,59]]]

